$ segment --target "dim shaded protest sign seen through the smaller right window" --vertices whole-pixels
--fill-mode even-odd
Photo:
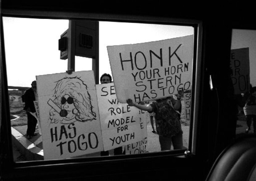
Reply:
[[[231,50],[230,54],[231,79],[234,94],[245,93],[250,90],[250,61],[249,48]]]

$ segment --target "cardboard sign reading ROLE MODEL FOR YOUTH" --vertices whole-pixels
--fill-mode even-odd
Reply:
[[[96,90],[104,150],[142,140],[147,130],[146,112],[118,102],[114,83],[96,85]]]

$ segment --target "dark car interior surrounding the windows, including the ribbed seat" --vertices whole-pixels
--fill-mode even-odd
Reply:
[[[0,2],[0,180],[256,179],[256,137],[252,132],[245,133],[243,125],[246,123],[238,118],[238,115],[242,115],[240,113],[243,106],[239,106],[240,102],[234,94],[230,77],[231,49],[249,47],[250,53],[254,52],[253,48],[256,49],[256,46],[247,44],[243,47],[241,42],[245,39],[242,35],[239,37],[242,32],[244,36],[248,36],[245,41],[256,42],[253,39],[256,26],[252,21],[255,15],[250,3],[18,0]],[[69,22],[85,20],[96,25],[99,22],[113,21],[192,27],[192,114],[188,129],[188,147],[134,155],[16,162],[13,155],[8,96],[8,86],[12,85],[7,82],[7,40],[4,36],[3,17]],[[252,33],[252,37],[249,37],[249,33]],[[92,70],[96,84],[99,83],[101,67],[97,51],[95,55],[90,56],[93,60]],[[253,54],[250,55],[250,66],[256,62],[254,58]],[[68,69],[63,71],[74,67],[75,63],[69,61]],[[251,68],[251,81],[256,77],[253,72],[255,69]]]

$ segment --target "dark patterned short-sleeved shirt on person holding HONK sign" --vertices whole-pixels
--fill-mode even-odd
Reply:
[[[150,106],[153,108],[152,112],[155,112],[155,120],[158,124],[157,132],[163,137],[172,137],[183,133],[180,124],[180,114],[172,108],[168,100],[171,101],[173,106],[175,105],[176,100],[173,97],[168,97],[161,102],[150,103]],[[179,112],[181,112],[181,109]]]

